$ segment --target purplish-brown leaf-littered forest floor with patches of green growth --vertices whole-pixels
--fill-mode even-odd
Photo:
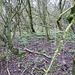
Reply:
[[[61,40],[58,34],[56,38],[47,42],[46,35],[22,34],[22,37],[16,36],[14,46],[20,51],[28,49],[23,55],[8,55],[11,60],[0,60],[0,75],[44,75],[43,69],[48,68],[52,56]],[[6,51],[6,47],[0,42],[0,52]],[[45,54],[45,55],[44,55]],[[46,56],[47,55],[47,56]],[[48,75],[72,75],[72,60],[75,56],[75,37],[66,37],[58,54],[53,62]],[[4,58],[5,59],[5,58]],[[7,60],[7,58],[6,58]],[[8,67],[8,69],[7,69]],[[8,74],[9,71],[9,74]]]

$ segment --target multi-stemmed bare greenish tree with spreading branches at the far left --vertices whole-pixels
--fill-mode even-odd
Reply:
[[[2,18],[2,33],[0,34],[0,40],[2,40],[9,49],[13,48],[13,39],[16,33],[16,28],[20,23],[21,4],[17,2],[14,7],[13,4],[7,0],[1,1],[3,4],[3,13],[0,12]]]

